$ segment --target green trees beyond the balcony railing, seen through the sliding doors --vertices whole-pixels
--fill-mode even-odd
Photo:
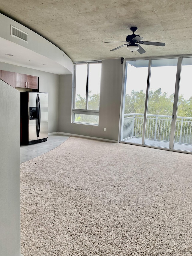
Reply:
[[[125,112],[124,113],[125,114],[129,114],[129,113],[144,114],[145,101],[146,101],[146,95],[145,95],[145,93],[143,93],[143,90],[141,90],[140,92],[135,92],[133,90],[130,95],[128,95],[128,94],[125,95]],[[168,97],[166,92],[162,93],[161,88],[154,90],[154,91],[150,90],[147,113],[149,115],[172,116],[173,102],[174,102],[174,94],[171,94]],[[177,137],[177,134],[180,134],[181,130],[182,130],[183,138],[185,136],[189,136],[189,135],[186,135],[185,133],[187,132],[187,130],[190,130],[191,126],[192,126],[192,124],[190,122],[188,122],[188,121],[192,121],[192,97],[190,97],[189,100],[186,100],[182,94],[179,95],[177,116],[190,117],[191,119],[186,119],[187,124],[185,122],[183,122],[183,127],[181,127],[181,122],[179,122],[182,119],[179,119],[179,118],[177,119],[176,137]],[[137,116],[137,117],[139,117],[139,116]],[[159,133],[162,131],[161,128],[165,124],[163,119],[167,119],[167,118],[162,117],[158,121],[158,124],[157,124],[157,132],[159,131]],[[156,120],[156,117],[154,117],[154,120]],[[171,120],[171,119],[169,118],[169,120]],[[185,119],[184,119],[184,121],[185,121]],[[142,127],[143,127],[142,119],[140,119],[140,123],[138,123],[138,122],[139,122],[138,119],[135,119],[135,123],[134,123],[135,136],[137,135],[136,130],[138,130],[138,125],[140,125],[141,131],[142,131]],[[150,124],[153,127],[153,129],[152,129],[153,135],[155,132],[155,124],[156,124],[156,121],[152,122]],[[187,125],[186,129],[185,129],[185,125]],[[140,128],[139,128],[139,130],[140,130]],[[158,135],[160,135],[160,134],[158,134]],[[142,136],[142,132],[141,132],[140,136]]]

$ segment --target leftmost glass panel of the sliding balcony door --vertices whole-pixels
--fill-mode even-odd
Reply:
[[[141,144],[149,60],[126,62],[122,140]]]

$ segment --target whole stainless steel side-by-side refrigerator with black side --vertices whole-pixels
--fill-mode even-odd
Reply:
[[[46,141],[48,93],[21,92],[21,145]]]

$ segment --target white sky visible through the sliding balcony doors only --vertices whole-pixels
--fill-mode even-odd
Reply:
[[[150,90],[161,88],[169,97],[175,92],[177,66],[152,67],[150,77]],[[131,72],[131,73],[130,73]],[[136,68],[128,64],[126,93],[132,90],[146,93],[148,67]],[[192,96],[192,65],[182,66],[179,95],[183,94],[188,100]]]

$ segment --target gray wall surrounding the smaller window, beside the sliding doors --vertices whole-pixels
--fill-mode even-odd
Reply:
[[[102,60],[99,126],[82,125],[71,123],[72,75],[60,75],[58,131],[118,141],[122,80],[121,59]]]

